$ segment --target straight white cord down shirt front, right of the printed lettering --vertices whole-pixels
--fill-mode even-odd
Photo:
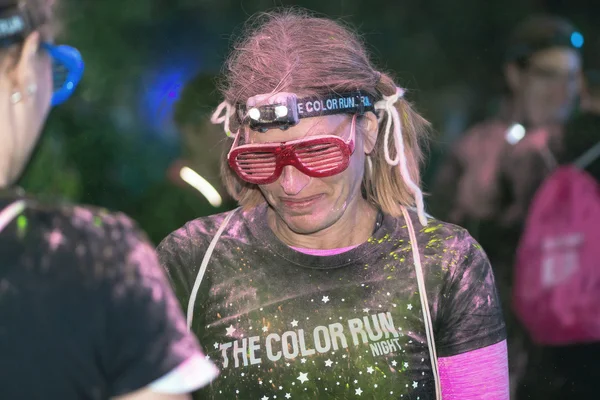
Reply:
[[[417,235],[413,227],[412,220],[408,215],[405,207],[402,207],[402,214],[408,227],[408,235],[410,238],[410,247],[413,253],[413,261],[415,263],[415,274],[417,275],[417,285],[419,286],[419,297],[421,299],[421,309],[423,311],[423,322],[425,323],[425,335],[427,336],[427,347],[429,348],[429,358],[431,359],[431,370],[435,380],[435,396],[437,400],[442,399],[442,384],[440,382],[440,372],[438,367],[437,350],[435,349],[435,338],[433,337],[433,322],[431,320],[431,312],[429,311],[429,301],[427,300],[427,291],[425,288],[425,277],[423,275],[423,267],[421,265],[421,255],[419,254],[419,246],[417,244]]]

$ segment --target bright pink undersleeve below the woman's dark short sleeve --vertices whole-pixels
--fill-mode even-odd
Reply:
[[[509,400],[506,340],[438,364],[444,400]]]

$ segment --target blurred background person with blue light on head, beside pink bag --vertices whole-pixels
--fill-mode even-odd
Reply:
[[[507,321],[513,393],[528,347],[511,312],[513,257],[529,202],[556,165],[563,125],[577,106],[582,44],[581,33],[562,18],[535,16],[517,26],[505,54],[502,110],[452,146],[431,193],[431,213],[466,227],[491,260]]]

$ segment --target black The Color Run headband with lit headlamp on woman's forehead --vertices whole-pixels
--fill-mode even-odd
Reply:
[[[278,93],[266,99],[264,96],[251,98],[245,106],[238,108],[238,117],[242,124],[247,123],[254,131],[286,130],[297,125],[301,118],[333,114],[363,115],[375,110],[374,103],[371,95],[361,91],[302,99],[293,93]]]

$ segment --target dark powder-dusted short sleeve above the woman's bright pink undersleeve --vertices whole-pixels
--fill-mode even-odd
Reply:
[[[451,245],[453,260],[441,288],[434,322],[439,357],[480,349],[506,339],[496,283],[487,255],[464,231]]]

